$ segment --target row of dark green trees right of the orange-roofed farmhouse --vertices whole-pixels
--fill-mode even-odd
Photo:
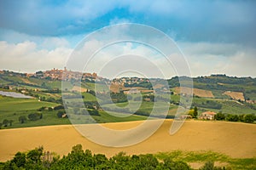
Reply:
[[[217,121],[229,121],[229,122],[247,122],[253,123],[256,121],[256,116],[253,114],[242,114],[242,115],[233,115],[233,114],[223,114],[222,112],[218,112],[215,115],[215,120]]]

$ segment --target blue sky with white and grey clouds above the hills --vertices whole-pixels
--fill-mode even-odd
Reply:
[[[253,0],[1,0],[0,70],[61,69],[79,42],[92,32],[105,26],[136,23],[171,37],[193,77],[256,77],[255,7]],[[125,53],[131,44],[119,45]],[[147,54],[141,46],[136,47],[138,53]],[[98,59],[100,62],[101,57]],[[94,71],[94,67],[91,64],[87,71]]]

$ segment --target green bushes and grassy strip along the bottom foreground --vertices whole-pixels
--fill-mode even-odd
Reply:
[[[256,158],[234,159],[212,151],[161,152],[156,155],[126,156],[124,152],[113,157],[92,154],[83,150],[81,144],[73,146],[72,151],[62,158],[55,153],[38,147],[26,153],[17,152],[10,161],[0,162],[0,169],[192,169],[189,165],[197,163],[201,170],[256,169]],[[192,166],[193,167],[193,166]]]

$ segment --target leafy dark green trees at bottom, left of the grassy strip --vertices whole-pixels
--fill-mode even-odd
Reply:
[[[72,151],[60,158],[53,153],[44,152],[43,147],[27,153],[18,152],[15,157],[0,164],[0,169],[191,169],[183,161],[172,161],[166,158],[159,161],[154,155],[126,156],[124,152],[113,157],[103,154],[92,154],[83,150],[81,144],[73,146]]]

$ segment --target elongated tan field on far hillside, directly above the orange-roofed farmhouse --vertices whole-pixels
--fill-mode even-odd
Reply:
[[[174,88],[174,92],[180,94],[180,87]],[[183,94],[190,94],[191,88],[183,88]],[[193,88],[193,94],[201,98],[214,98],[212,91]]]

